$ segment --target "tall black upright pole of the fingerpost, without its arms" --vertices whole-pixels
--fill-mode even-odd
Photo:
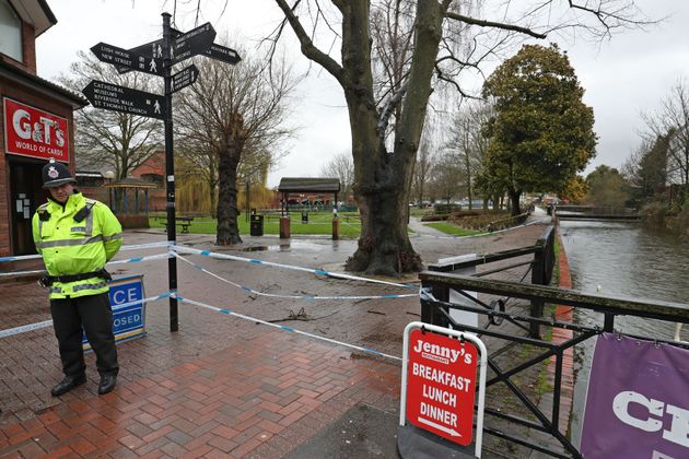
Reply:
[[[165,81],[165,183],[167,184],[167,242],[176,244],[175,227],[175,156],[173,154],[173,121],[172,121],[172,59],[170,56],[171,26],[170,13],[163,13],[163,78]],[[167,260],[167,278],[171,292],[177,292],[177,259]],[[170,297],[170,331],[179,329],[177,315],[177,298]]]

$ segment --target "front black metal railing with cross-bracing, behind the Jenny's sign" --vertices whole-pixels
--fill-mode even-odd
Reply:
[[[492,408],[491,400],[487,400],[486,414],[491,417],[506,421],[509,425],[517,425],[542,432],[557,442],[551,442],[550,445],[544,446],[536,443],[534,439],[530,439],[528,436],[490,426],[484,426],[483,432],[498,438],[502,438],[505,442],[514,443],[558,458],[582,457],[579,449],[567,436],[567,425],[561,425],[560,423],[564,352],[604,331],[615,331],[615,320],[618,316],[652,318],[668,322],[689,322],[689,305],[677,303],[584,294],[572,290],[560,290],[546,285],[529,285],[510,281],[488,280],[476,275],[457,275],[439,271],[424,271],[421,272],[419,276],[422,281],[421,310],[423,321],[441,326],[451,325],[452,328],[456,330],[475,332],[479,337],[492,337],[497,341],[507,342],[507,345],[529,345],[536,346],[540,350],[537,355],[528,356],[524,362],[511,362],[511,367],[509,368],[503,368],[497,362],[497,354],[501,351],[489,354],[488,360],[489,368],[493,372],[494,376],[489,378],[487,387],[491,387],[497,384],[504,384],[509,388],[510,392],[521,401],[522,408],[525,408],[532,419],[526,419],[524,415],[517,415],[506,412],[505,410]],[[475,303],[475,306],[466,304],[451,304],[436,297],[434,294],[434,292],[443,292],[449,289],[464,293],[467,298],[470,298]],[[468,292],[498,295],[500,297],[522,298],[532,302],[532,305],[542,305],[548,303],[553,305],[571,306],[575,309],[597,311],[603,315],[603,323],[583,326],[571,321],[556,320],[554,318],[544,318],[540,317],[540,315],[534,316],[533,314],[514,314],[499,307],[499,301],[493,301],[487,304],[483,301],[475,298]],[[484,327],[471,327],[463,323],[456,323],[449,315],[449,310],[452,309],[477,313],[479,315],[487,316],[488,321]],[[423,314],[423,311],[425,311],[425,314]],[[534,311],[533,308],[532,311]],[[544,327],[571,330],[572,338],[567,339],[561,343],[552,343],[541,338],[519,336],[514,332],[505,332],[495,329],[495,327],[503,323],[526,323],[528,327],[519,327],[519,329],[523,328],[529,331],[534,328]],[[656,337],[628,336],[689,348],[689,344],[687,343],[682,344],[678,342],[658,340]],[[507,348],[507,345],[505,348]],[[554,357],[552,409],[549,413],[547,413],[538,407],[538,402],[532,400],[527,396],[527,391],[523,386],[519,386],[519,381],[517,381],[515,377],[527,368],[541,365],[552,357]]]

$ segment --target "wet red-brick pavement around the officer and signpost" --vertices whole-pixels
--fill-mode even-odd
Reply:
[[[444,237],[427,229],[417,228],[411,236],[424,263],[533,245],[544,226],[477,238]],[[125,245],[164,238],[161,231],[128,231]],[[357,240],[320,237],[243,238],[240,246],[221,248],[209,235],[180,235],[178,244],[332,272],[343,271],[357,247]],[[117,259],[163,251],[121,251]],[[178,260],[183,297],[394,356],[401,355],[405,326],[420,315],[416,297],[287,299],[242,289],[311,296],[409,293],[400,287],[255,262],[184,258],[217,278]],[[165,260],[113,268],[116,276],[143,274],[147,297],[168,290]],[[516,279],[521,273],[504,275]],[[413,284],[416,279],[402,281]],[[0,292],[0,330],[49,319],[45,292],[34,281],[3,282]],[[281,457],[290,451],[299,457],[294,455],[300,447],[313,451],[307,447],[314,438],[361,407],[388,417],[398,415],[397,360],[187,303],[179,304],[179,331],[168,330],[168,301],[149,303],[148,334],[118,345],[118,387],[104,397],[96,395],[92,354],[86,360],[86,385],[60,398],[49,396],[61,377],[51,328],[0,338],[0,457]]]

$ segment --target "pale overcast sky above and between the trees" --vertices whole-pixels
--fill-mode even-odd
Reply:
[[[227,3],[222,15],[220,11],[209,11],[199,23],[211,22],[219,34],[227,34],[246,47],[257,46],[281,17],[273,0]],[[643,129],[641,113],[657,109],[680,76],[689,79],[689,3],[679,0],[637,3],[650,16],[669,17],[645,33],[626,32],[603,44],[560,43],[586,91],[584,102],[595,111],[595,130],[599,136],[597,157],[586,172],[599,164],[619,167],[639,145],[638,131]],[[48,4],[58,23],[38,37],[37,60],[38,74],[49,80],[68,72],[78,50],[87,50],[98,42],[129,48],[160,38],[161,12],[173,13],[173,3],[161,0],[48,0]],[[176,26],[187,31],[194,27],[194,21],[191,14],[178,14]],[[291,51],[290,59],[297,69],[306,70],[307,61],[299,52],[292,32],[285,32],[289,39],[284,47]],[[293,119],[301,129],[290,143],[289,156],[269,175],[269,186],[277,185],[284,176],[317,176],[330,157],[350,150],[349,119],[341,90],[317,66],[311,68],[299,89]]]

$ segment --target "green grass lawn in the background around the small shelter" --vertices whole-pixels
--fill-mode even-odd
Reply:
[[[352,214],[341,213],[340,220],[340,237],[341,238],[357,238],[361,231],[361,223],[354,219]],[[330,212],[310,212],[308,223],[302,223],[301,213],[291,213],[291,233],[292,234],[332,234],[332,214]],[[149,217],[149,225],[152,228],[164,229],[163,220],[155,216]],[[249,234],[249,222],[246,221],[245,215],[240,215],[240,234]],[[189,226],[189,233],[192,234],[215,234],[218,227],[218,221],[210,216],[197,216]],[[177,225],[177,234],[182,232],[182,226]],[[280,233],[280,220],[276,216],[268,216],[264,219],[264,234],[279,234]]]

